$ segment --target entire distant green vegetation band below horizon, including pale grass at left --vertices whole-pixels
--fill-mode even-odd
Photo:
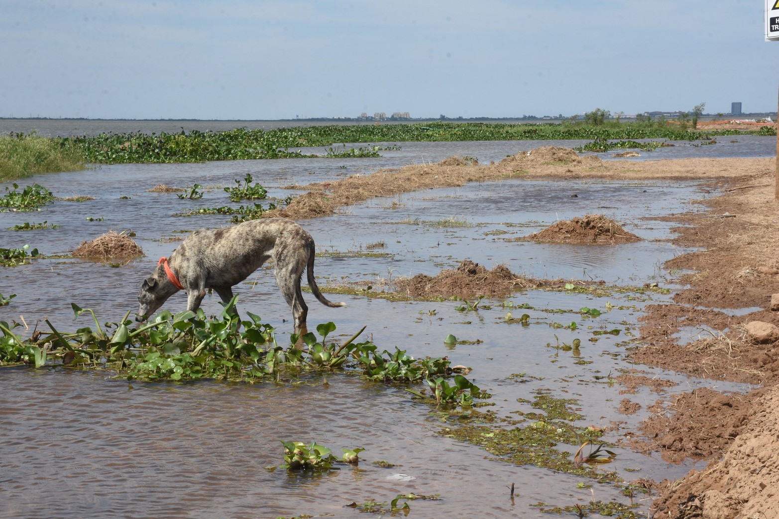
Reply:
[[[501,140],[592,139],[590,149],[640,147],[653,149],[657,143],[641,144],[635,139],[696,141],[717,135],[776,135],[763,126],[754,131],[690,131],[665,121],[619,123],[612,121],[566,121],[557,124],[492,124],[474,122],[432,122],[421,124],[330,125],[227,132],[109,133],[93,137],[41,137],[35,133],[12,133],[0,137],[0,181],[48,171],[83,170],[86,163],[192,163],[209,160],[280,159],[323,156],[359,158],[380,156],[383,149],[397,144],[333,148],[335,143],[451,142]],[[608,145],[608,141],[623,141]],[[608,145],[608,147],[607,147]],[[324,155],[304,153],[312,146],[330,146]],[[585,146],[587,148],[587,146]]]

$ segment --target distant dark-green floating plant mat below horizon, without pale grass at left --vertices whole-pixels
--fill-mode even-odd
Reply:
[[[755,132],[769,135],[773,128]],[[741,135],[735,130],[707,132],[710,135]],[[488,124],[433,122],[427,124],[330,125],[277,128],[263,131],[237,128],[227,132],[146,135],[102,134],[95,137],[60,139],[60,146],[76,150],[90,163],[171,163],[206,160],[279,159],[315,156],[303,153],[311,146],[336,142],[442,142],[488,140],[558,139],[671,139],[694,141],[700,132],[654,123],[634,124]],[[359,149],[330,148],[326,157],[379,156],[380,146]],[[397,149],[390,146],[390,149]]]

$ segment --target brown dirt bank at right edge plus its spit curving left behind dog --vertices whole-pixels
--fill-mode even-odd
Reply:
[[[747,395],[697,390],[673,402],[658,402],[652,409],[655,418],[640,430],[646,441],[635,447],[661,451],[668,459],[712,459],[703,471],[657,485],[654,517],[779,517],[779,457],[774,454],[779,451],[779,341],[757,344],[746,331],[750,321],[779,325],[779,311],[770,310],[772,294],[779,293],[774,167],[774,159],[603,162],[570,149],[541,148],[484,166],[421,164],[310,184],[305,187],[309,193],[267,216],[311,218],[368,198],[507,177],[691,179],[721,190],[722,195],[706,202],[706,217],[668,218],[683,224],[674,242],[700,251],[666,265],[689,271],[681,276],[686,288],[673,303],[647,307],[640,330],[643,346],[631,356],[698,377],[763,387]],[[507,281],[516,278],[511,276]],[[712,332],[680,345],[674,334],[688,327]],[[620,407],[635,410],[630,402]]]

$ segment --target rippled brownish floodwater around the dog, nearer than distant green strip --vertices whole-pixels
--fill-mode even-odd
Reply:
[[[748,146],[728,143],[731,156],[744,153],[739,144]],[[30,244],[47,256],[69,254],[82,241],[108,230],[132,230],[146,256],[122,266],[44,258],[0,268],[0,293],[16,294],[8,306],[0,307],[0,319],[26,323],[29,328],[23,335],[29,335],[35,327],[46,329],[46,318],[64,330],[92,326],[91,317],[73,321],[71,303],[93,309],[100,321],[118,321],[128,310],[134,312],[140,283],[157,258],[177,246],[168,241],[182,236],[177,231],[227,223],[225,216],[177,215],[229,204],[222,188],[247,173],[270,188],[270,195],[284,197],[300,192],[286,188],[289,185],[333,181],[421,160],[435,162],[454,153],[487,163],[536,146],[403,143],[402,149],[384,152],[379,159],[123,164],[26,179],[23,184],[38,182],[59,197],[95,199],[57,201],[41,212],[0,213],[2,247]],[[690,149],[697,153],[713,147]],[[158,183],[179,187],[198,183],[206,186],[206,194],[191,201],[146,191]],[[0,184],[0,191],[8,185]],[[709,196],[713,195],[692,182],[511,180],[376,198],[336,216],[301,224],[317,244],[315,272],[320,286],[367,280],[378,289],[399,276],[434,275],[470,258],[488,268],[505,263],[513,272],[541,278],[604,279],[617,286],[658,282],[675,288],[669,284],[674,276],[662,265],[686,250],[668,243],[671,224],[652,217],[700,210],[701,205],[693,201]],[[615,219],[644,240],[613,247],[509,241],[558,219],[593,212]],[[441,226],[447,218],[461,226]],[[7,230],[44,220],[59,227]],[[379,243],[383,247],[376,248]],[[239,310],[261,315],[282,332],[283,341],[283,332],[291,331],[290,311],[270,272],[261,269],[236,292]],[[514,412],[532,410],[517,399],[532,401],[538,391],[576,399],[576,410],[584,416],[577,425],[621,423],[605,437],[608,441],[629,436],[647,417],[647,407],[664,397],[640,389],[627,395],[640,403],[640,412],[621,415],[617,409],[625,395],[620,394],[619,384],[605,384],[605,377],[636,369],[647,377],[674,380],[678,385],[670,389],[673,392],[709,384],[633,366],[624,359],[626,346],[636,340],[643,304],[669,297],[652,295],[644,300],[629,294],[597,298],[526,291],[485,300],[480,310],[464,313],[456,310],[459,303],[449,301],[391,302],[333,295],[330,300],[344,300],[347,307],[331,309],[306,295],[312,328],[334,321],[338,327],[334,335],[349,337],[367,324],[364,338],[371,338],[379,350],[393,351],[397,346],[413,356],[449,356],[453,364],[473,368],[469,380],[492,394],[490,402],[495,406],[487,409],[499,417],[516,419]],[[206,296],[206,313],[220,309],[217,299]],[[523,303],[532,308],[513,309]],[[165,305],[171,311],[184,307],[183,295],[171,297]],[[596,307],[603,314],[582,317],[581,307]],[[507,311],[530,314],[530,325],[506,324]],[[560,327],[571,321],[578,324],[575,330]],[[620,335],[590,340],[593,331],[614,328],[620,329]],[[447,346],[443,339],[449,334],[481,342]],[[581,340],[580,356],[555,348],[574,338]],[[524,375],[512,377],[516,373]],[[746,390],[735,384],[718,387]],[[322,377],[309,377],[284,384],[208,380],[173,384],[129,383],[112,378],[111,373],[56,365],[40,370],[2,368],[0,516],[358,517],[360,512],[347,503],[390,503],[397,494],[412,492],[438,499],[410,501],[411,517],[547,517],[530,505],[565,507],[593,499],[628,502],[616,486],[511,465],[478,447],[442,437],[439,431],[446,424],[434,412],[398,387],[345,374],[327,377],[326,383]],[[267,468],[283,463],[280,440],[315,440],[335,454],[342,447],[366,450],[358,468],[342,465],[326,475],[290,475]],[[572,455],[576,451],[559,448]],[[679,478],[698,466],[694,461],[669,465],[656,454],[645,456],[622,448],[615,452],[615,461],[601,470],[616,471],[626,481]],[[373,461],[396,466],[382,468]],[[517,493],[513,503],[507,488],[512,484]],[[590,484],[591,489],[580,488]],[[643,499],[637,511],[647,514],[650,499],[636,499]]]

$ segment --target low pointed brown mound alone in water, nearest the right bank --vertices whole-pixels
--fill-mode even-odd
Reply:
[[[547,241],[562,244],[627,244],[641,238],[622,229],[619,223],[603,215],[584,215],[582,218],[562,220],[524,240]]]

